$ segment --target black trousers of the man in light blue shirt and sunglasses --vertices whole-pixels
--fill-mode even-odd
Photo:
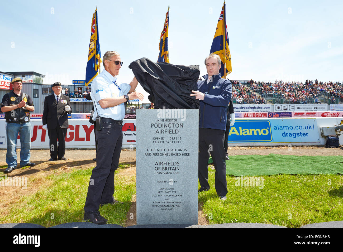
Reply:
[[[122,125],[109,122],[102,124],[103,129],[96,132],[96,166],[88,184],[85,213],[91,213],[98,210],[100,204],[113,201],[114,172],[118,168],[123,141]]]

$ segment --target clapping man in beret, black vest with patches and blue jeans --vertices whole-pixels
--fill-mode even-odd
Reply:
[[[31,157],[31,123],[30,111],[34,111],[32,99],[28,94],[21,92],[23,83],[20,78],[11,81],[13,91],[3,96],[1,102],[1,112],[5,113],[7,169],[4,173],[12,172],[17,166],[17,137],[20,133],[20,166],[35,166],[30,162]]]

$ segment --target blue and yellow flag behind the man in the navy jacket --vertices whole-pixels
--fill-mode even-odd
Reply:
[[[229,50],[229,36],[227,33],[227,26],[225,22],[226,12],[225,12],[225,2],[220,13],[216,32],[214,34],[210,54],[214,53],[218,55],[222,60],[222,66],[219,70],[222,78],[225,79],[226,74],[231,73],[231,54]],[[224,28],[225,27],[225,28]],[[225,31],[225,32],[224,32]],[[225,36],[225,38],[224,38]],[[225,41],[225,42],[224,42]],[[225,69],[226,64],[226,69]]]

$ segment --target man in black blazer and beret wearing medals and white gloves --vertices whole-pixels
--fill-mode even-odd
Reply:
[[[60,82],[52,84],[54,94],[45,97],[43,111],[43,129],[48,130],[50,159],[67,160],[64,157],[66,152],[66,134],[68,124],[68,114],[72,112],[69,97],[61,94],[62,86]],[[58,139],[58,148],[57,148]]]

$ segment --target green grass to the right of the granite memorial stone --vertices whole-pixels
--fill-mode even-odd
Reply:
[[[199,201],[210,224],[266,223],[298,228],[306,224],[343,220],[343,176],[264,176],[263,189],[236,186],[227,176],[227,200],[214,189],[214,171],[209,172],[210,191]]]

